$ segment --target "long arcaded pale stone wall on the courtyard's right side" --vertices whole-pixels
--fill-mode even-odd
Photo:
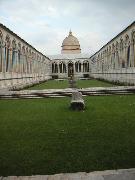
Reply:
[[[135,84],[135,22],[91,58],[90,76]]]

